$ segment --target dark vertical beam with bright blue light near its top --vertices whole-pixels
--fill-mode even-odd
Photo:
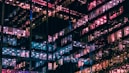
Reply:
[[[32,61],[31,61],[31,41],[32,41],[32,18],[33,18],[33,10],[32,10],[32,0],[30,0],[30,37],[29,37],[29,58],[30,58],[30,64],[29,64],[29,73],[31,73],[32,69]]]

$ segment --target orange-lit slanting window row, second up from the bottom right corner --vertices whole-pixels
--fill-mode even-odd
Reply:
[[[96,71],[100,71],[102,69],[106,69],[107,67],[111,67],[114,64],[123,63],[123,61],[126,60],[124,56],[127,57],[127,55],[128,55],[127,53],[124,53],[124,54],[115,56],[110,60],[105,60],[105,61],[102,61],[99,64],[95,64],[95,65],[92,66],[92,72],[96,72]],[[75,73],[80,73],[80,72],[81,73],[90,73],[90,71],[91,71],[90,68],[86,68],[84,70],[77,71]]]

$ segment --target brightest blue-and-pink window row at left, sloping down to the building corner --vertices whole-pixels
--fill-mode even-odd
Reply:
[[[10,56],[18,56],[18,57],[29,58],[29,51],[27,51],[27,50],[18,50],[18,49],[15,49],[15,48],[6,48],[6,47],[4,47],[4,48],[2,48],[2,54],[3,55],[10,55]],[[46,60],[47,59],[47,54],[32,51],[31,57],[36,58],[36,59]],[[52,60],[52,54],[48,55],[48,59]]]

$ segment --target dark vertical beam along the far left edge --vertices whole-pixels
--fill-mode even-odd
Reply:
[[[2,17],[1,17],[1,42],[0,42],[0,73],[2,73],[2,48],[3,48],[3,26],[4,26],[4,12],[5,12],[5,0],[2,0]]]

